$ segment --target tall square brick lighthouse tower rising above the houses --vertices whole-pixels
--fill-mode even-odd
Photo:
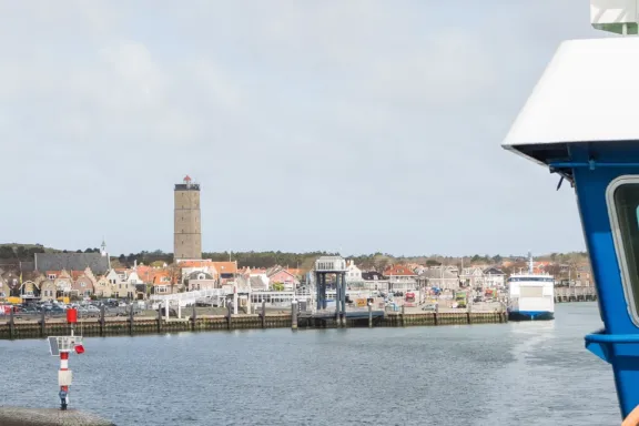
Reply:
[[[202,258],[200,185],[191,178],[175,184],[173,261]]]

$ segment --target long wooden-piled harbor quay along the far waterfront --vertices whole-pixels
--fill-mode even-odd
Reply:
[[[69,334],[71,328],[64,318],[18,317],[8,315],[0,322],[0,339],[44,338]],[[326,328],[326,327],[403,327],[439,326],[459,324],[506,323],[503,310],[473,311],[443,308],[425,312],[418,307],[403,307],[398,312],[369,308],[347,311],[343,322],[333,311],[298,312],[295,305],[287,311],[258,314],[199,315],[195,308],[184,317],[158,315],[129,315],[128,317],[81,318],[75,329],[83,336],[143,335],[179,332],[207,332],[260,328]]]

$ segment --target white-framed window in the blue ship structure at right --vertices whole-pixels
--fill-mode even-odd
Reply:
[[[639,176],[611,183],[607,196],[626,301],[639,324]]]

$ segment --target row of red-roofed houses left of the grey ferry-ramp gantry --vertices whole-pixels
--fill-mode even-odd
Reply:
[[[1,271],[0,301],[23,302],[59,297],[146,298],[151,294],[220,288],[237,283],[252,290],[293,290],[300,271],[275,266],[266,270],[237,268],[237,262],[181,261],[174,265],[113,268],[99,253],[60,253],[39,256],[42,271]]]

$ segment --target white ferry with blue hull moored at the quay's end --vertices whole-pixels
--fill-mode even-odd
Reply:
[[[528,273],[508,278],[508,320],[542,321],[555,318],[555,277],[535,274],[532,256]]]

